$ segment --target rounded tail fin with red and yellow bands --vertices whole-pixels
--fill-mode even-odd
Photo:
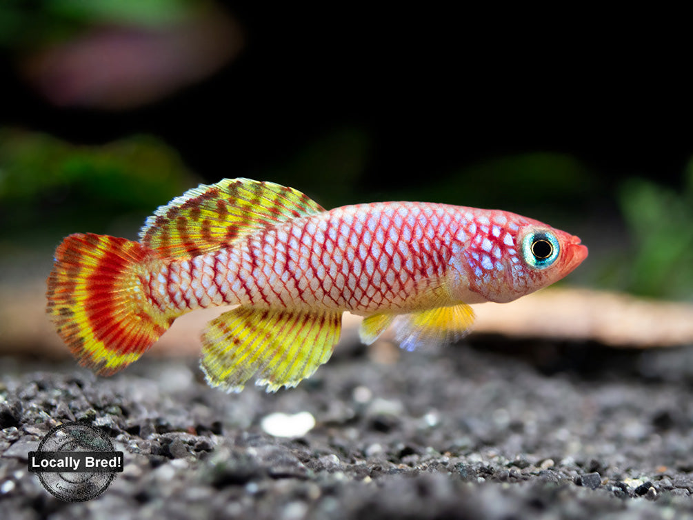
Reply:
[[[148,297],[157,262],[137,242],[72,234],[55,250],[48,278],[51,321],[81,365],[110,375],[137,360],[175,319]]]

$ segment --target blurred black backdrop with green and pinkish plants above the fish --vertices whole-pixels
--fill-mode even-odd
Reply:
[[[362,7],[4,2],[3,281],[44,277],[66,234],[134,238],[186,189],[243,176],[324,207],[516,211],[589,246],[568,283],[693,300],[693,150],[662,124],[680,100],[633,105],[579,46],[511,24],[512,46],[479,46],[476,13],[460,31]]]

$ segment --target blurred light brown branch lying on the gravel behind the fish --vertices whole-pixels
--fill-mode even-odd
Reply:
[[[508,338],[595,341],[609,347],[670,347],[693,344],[693,305],[640,300],[586,289],[548,289],[509,304],[476,305],[473,333]],[[45,314],[44,284],[0,286],[0,353],[60,358],[69,354]],[[178,318],[152,347],[164,356],[200,352],[200,332],[225,308],[202,309]],[[342,344],[358,341],[360,318],[344,314]],[[392,340],[386,331],[378,341]],[[378,342],[374,345],[377,348]],[[337,347],[339,348],[339,347]]]

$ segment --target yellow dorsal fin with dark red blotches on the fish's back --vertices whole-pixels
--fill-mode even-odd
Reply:
[[[147,218],[140,241],[159,257],[196,257],[225,248],[265,227],[325,211],[292,188],[224,179],[186,191]]]

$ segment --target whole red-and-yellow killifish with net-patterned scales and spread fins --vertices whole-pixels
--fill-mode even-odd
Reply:
[[[272,182],[225,179],[159,207],[138,242],[72,234],[55,251],[47,312],[82,365],[113,374],[179,315],[236,305],[202,333],[212,386],[292,387],[331,356],[344,311],[373,343],[459,339],[469,304],[510,302],[568,275],[577,236],[509,211],[374,202],[326,211]]]

